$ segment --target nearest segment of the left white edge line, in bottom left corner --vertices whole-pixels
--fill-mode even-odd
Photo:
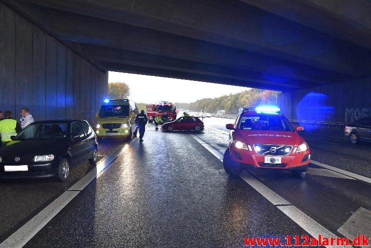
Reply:
[[[24,246],[33,236],[36,235],[36,233],[38,233],[38,231],[41,230],[41,228],[56,216],[59,211],[61,211],[75,196],[77,196],[78,193],[78,191],[64,192],[40,213],[3,241],[0,244],[0,248]]]

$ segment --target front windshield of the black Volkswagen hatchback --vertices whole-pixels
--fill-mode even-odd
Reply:
[[[61,139],[67,137],[67,123],[30,124],[16,137],[16,140]]]

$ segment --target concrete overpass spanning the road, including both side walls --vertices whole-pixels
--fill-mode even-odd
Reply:
[[[92,121],[112,70],[280,91],[292,120],[351,122],[371,115],[370,10],[364,0],[3,0],[0,106]]]

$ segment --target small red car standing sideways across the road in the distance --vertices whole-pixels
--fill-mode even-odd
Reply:
[[[201,132],[204,129],[204,125],[198,117],[183,116],[175,121],[164,123],[162,129],[169,132],[173,130],[195,130]]]

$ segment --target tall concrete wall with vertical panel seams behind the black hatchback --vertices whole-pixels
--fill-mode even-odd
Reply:
[[[19,120],[85,119],[107,96],[107,73],[0,4],[0,110]]]

